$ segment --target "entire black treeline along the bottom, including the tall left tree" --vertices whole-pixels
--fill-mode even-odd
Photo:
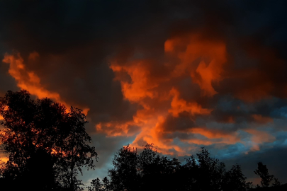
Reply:
[[[86,116],[77,108],[67,108],[49,98],[33,100],[28,91],[12,92],[0,98],[1,152],[0,190],[30,191],[135,191],[209,190],[245,191],[252,188],[240,165],[226,170],[225,164],[201,149],[180,163],[159,156],[153,144],[142,152],[125,146],[113,158],[108,178],[92,180],[86,187],[78,175],[83,167],[94,169],[98,156],[86,133]],[[269,175],[263,163],[254,171],[261,177],[257,187],[281,183]]]

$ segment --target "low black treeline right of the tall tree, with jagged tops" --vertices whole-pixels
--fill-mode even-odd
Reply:
[[[256,188],[281,185],[261,162],[254,173],[261,178],[261,185]],[[153,144],[147,144],[140,154],[129,145],[120,149],[113,158],[113,168],[108,170],[108,178],[92,180],[89,191],[245,191],[252,187],[239,164],[226,170],[225,163],[211,157],[204,148],[181,164],[176,158],[159,156]]]

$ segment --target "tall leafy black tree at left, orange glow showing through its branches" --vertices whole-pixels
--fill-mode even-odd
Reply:
[[[86,116],[77,108],[67,108],[49,98],[33,100],[28,91],[8,91],[0,98],[4,118],[1,146],[9,154],[2,177],[38,190],[80,190],[77,174],[82,166],[94,168],[95,148],[86,144],[91,137],[84,125]],[[35,179],[33,179],[35,178]],[[37,180],[38,180],[37,179]],[[44,181],[44,182],[41,182]],[[34,182],[34,181],[33,181]]]

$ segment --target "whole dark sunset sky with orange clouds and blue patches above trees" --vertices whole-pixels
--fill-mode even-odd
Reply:
[[[287,1],[0,2],[0,96],[81,108],[103,178],[122,146],[201,147],[287,183]]]

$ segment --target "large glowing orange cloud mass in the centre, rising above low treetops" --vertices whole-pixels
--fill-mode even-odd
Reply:
[[[201,96],[211,97],[217,92],[214,83],[224,79],[226,59],[225,43],[214,40],[204,40],[201,35],[174,37],[164,43],[167,57],[176,57],[174,63],[154,62],[151,59],[128,59],[126,63],[118,62],[117,57],[111,60],[110,68],[115,73],[116,81],[120,81],[123,96],[131,103],[137,103],[138,109],[133,120],[128,122],[106,122],[96,125],[98,132],[107,136],[135,136],[131,146],[142,146],[154,143],[163,154],[178,154],[184,156],[194,146],[182,148],[173,143],[172,139],[162,134],[184,132],[186,134],[201,134],[208,140],[188,139],[188,144],[235,144],[240,141],[237,133],[224,133],[204,127],[187,129],[165,129],[163,123],[169,115],[179,117],[183,112],[193,116],[210,115],[213,108],[203,108],[198,100],[181,98],[181,91],[172,83],[181,77],[190,78],[198,84]],[[234,122],[230,117],[229,122]],[[139,128],[133,131],[133,128]],[[140,132],[140,133],[138,133]]]

